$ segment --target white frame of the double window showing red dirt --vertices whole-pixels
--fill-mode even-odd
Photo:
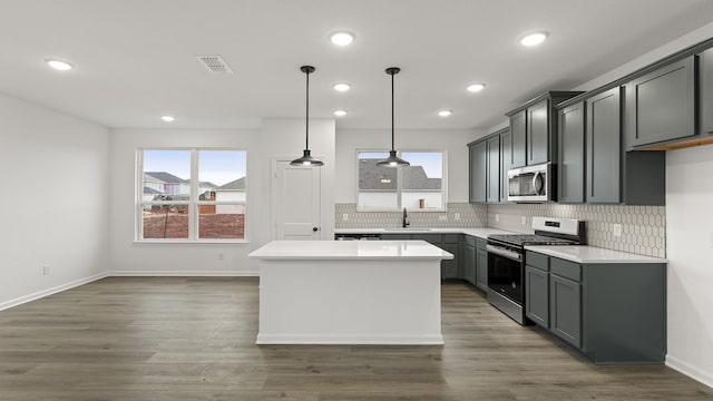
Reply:
[[[191,153],[191,182],[189,196],[187,200],[144,200],[144,151],[145,150],[188,150]],[[199,154],[201,151],[244,151],[245,153],[245,200],[201,200],[201,180],[199,180]],[[248,153],[245,148],[222,148],[222,147],[138,147],[136,149],[136,188],[135,188],[135,243],[149,244],[242,244],[250,243],[247,229],[247,194],[248,194]],[[194,179],[195,177],[195,179]],[[176,205],[186,206],[188,209],[188,237],[186,238],[144,238],[144,207],[155,205]],[[242,206],[244,209],[244,229],[243,238],[201,238],[199,237],[199,207],[211,205]]]

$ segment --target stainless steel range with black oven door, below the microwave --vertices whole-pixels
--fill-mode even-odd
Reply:
[[[488,302],[520,324],[525,317],[525,246],[585,245],[585,222],[533,217],[535,234],[488,236]]]

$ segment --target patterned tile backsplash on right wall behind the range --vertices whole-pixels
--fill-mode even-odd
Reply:
[[[488,205],[488,226],[533,233],[533,216],[587,222],[589,245],[639,255],[666,256],[666,207],[623,205],[515,204]],[[522,225],[525,217],[525,225]],[[621,236],[615,236],[621,224]]]

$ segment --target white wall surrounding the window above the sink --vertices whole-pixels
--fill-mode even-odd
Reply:
[[[395,135],[397,150],[448,151],[448,200],[468,202],[469,141],[482,136],[475,130],[401,129]],[[356,203],[356,150],[389,150],[390,129],[340,129],[336,133],[336,203]]]

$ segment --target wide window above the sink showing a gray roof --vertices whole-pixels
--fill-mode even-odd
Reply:
[[[445,153],[403,151],[408,167],[380,167],[388,151],[358,151],[359,211],[445,211]]]

